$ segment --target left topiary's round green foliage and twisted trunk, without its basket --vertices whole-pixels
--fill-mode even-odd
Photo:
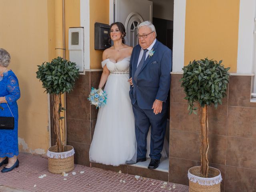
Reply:
[[[43,62],[42,65],[38,65],[38,71],[36,72],[36,78],[42,82],[42,87],[45,88],[44,92],[54,96],[53,118],[58,152],[64,151],[62,122],[64,117],[61,117],[60,113],[65,109],[62,107],[61,95],[65,92],[69,93],[73,89],[78,75],[76,64],[61,57],[54,58],[51,62]]]

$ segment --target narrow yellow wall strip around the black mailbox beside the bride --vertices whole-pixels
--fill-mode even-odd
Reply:
[[[90,69],[102,69],[102,50],[94,50],[94,23],[109,24],[109,1],[90,0]]]

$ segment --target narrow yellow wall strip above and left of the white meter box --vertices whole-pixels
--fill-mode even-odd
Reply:
[[[69,60],[68,29],[80,27],[80,0],[65,0],[65,54]]]

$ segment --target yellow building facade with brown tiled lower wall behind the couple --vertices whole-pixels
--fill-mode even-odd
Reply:
[[[168,170],[89,162],[98,111],[90,106],[87,97],[90,88],[97,87],[100,81],[103,52],[94,49],[94,39],[98,38],[94,36],[94,24],[121,20],[122,14],[118,16],[117,11],[130,8],[126,0],[0,0],[0,47],[10,52],[10,68],[17,74],[21,89],[20,151],[45,154],[54,145],[52,102],[36,79],[37,65],[56,56],[69,59],[68,30],[83,28],[83,72],[74,90],[65,96],[67,144],[75,148],[76,163],[187,185],[188,168],[200,164],[200,125],[198,116],[188,115],[179,80],[184,65],[207,57],[223,60],[231,72],[228,96],[217,110],[209,111],[210,166],[222,173],[222,191],[254,191],[256,0],[133,1],[151,6],[148,12],[157,38],[173,50]],[[144,7],[138,7],[143,15]],[[162,30],[158,30],[160,23],[165,26]]]

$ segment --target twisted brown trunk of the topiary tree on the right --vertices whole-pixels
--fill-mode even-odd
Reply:
[[[208,174],[208,158],[207,153],[209,149],[208,143],[208,110],[207,105],[204,105],[202,108],[202,118],[200,118],[201,124],[201,132],[200,132],[200,139],[201,139],[201,176],[207,177]]]

